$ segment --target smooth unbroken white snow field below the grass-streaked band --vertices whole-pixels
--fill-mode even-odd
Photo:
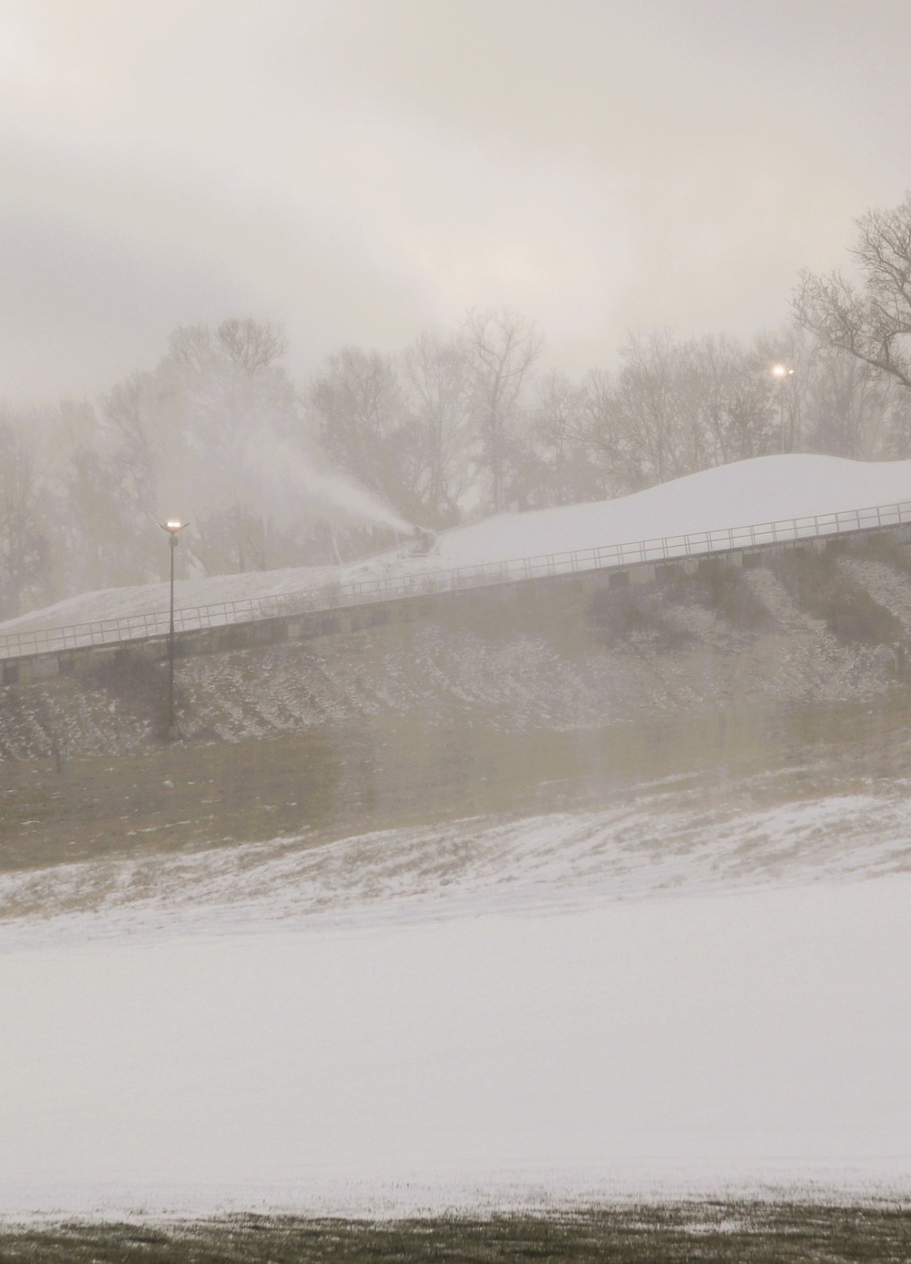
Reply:
[[[910,894],[6,939],[3,1201],[897,1183]]]

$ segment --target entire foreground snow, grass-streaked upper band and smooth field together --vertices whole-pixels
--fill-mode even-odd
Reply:
[[[4,876],[0,1211],[906,1188],[907,787],[672,790]]]

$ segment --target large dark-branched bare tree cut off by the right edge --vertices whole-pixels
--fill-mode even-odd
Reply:
[[[868,211],[857,226],[850,254],[859,284],[839,272],[802,272],[796,317],[824,345],[911,387],[911,192],[892,210]]]

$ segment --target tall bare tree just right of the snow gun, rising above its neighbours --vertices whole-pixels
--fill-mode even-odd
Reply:
[[[462,329],[471,349],[474,387],[480,423],[481,461],[490,474],[494,513],[504,508],[504,475],[509,430],[528,372],[541,350],[541,335],[524,316],[502,307],[469,311]]]

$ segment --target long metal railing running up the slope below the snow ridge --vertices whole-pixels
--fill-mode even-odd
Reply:
[[[540,554],[508,561],[479,562],[446,570],[414,570],[377,579],[342,580],[321,584],[278,597],[251,597],[239,602],[183,607],[174,611],[177,632],[258,623],[262,619],[302,613],[331,612],[351,605],[451,593],[465,588],[572,575],[591,570],[617,570],[643,562],[704,557],[713,552],[759,549],[767,545],[811,540],[819,536],[847,535],[911,523],[911,502],[849,509],[807,518],[782,518],[747,527],[700,531],[684,536],[662,536],[632,544],[604,545],[571,552]],[[0,636],[0,660],[38,653],[57,653],[87,646],[119,645],[124,641],[149,641],[166,637],[169,613],[129,614],[123,618],[95,619],[71,627],[38,628]]]

